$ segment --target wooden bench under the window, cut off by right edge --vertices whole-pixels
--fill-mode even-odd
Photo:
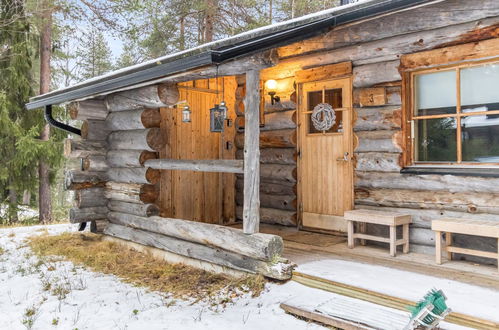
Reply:
[[[478,257],[492,258],[498,261],[497,252],[486,252],[452,246],[452,234],[464,234],[482,237],[497,238],[499,244],[499,222],[486,220],[468,220],[460,218],[442,218],[431,222],[431,229],[435,231],[435,261],[442,263],[442,250],[447,252],[447,258],[452,260],[452,253],[469,254]],[[442,233],[445,233],[445,246],[442,248]]]

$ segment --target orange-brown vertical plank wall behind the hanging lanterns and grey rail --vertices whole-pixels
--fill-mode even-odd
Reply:
[[[226,87],[235,90],[235,82],[226,78]],[[222,79],[219,79],[221,82]],[[227,88],[228,89],[228,88]],[[233,159],[235,150],[227,141],[234,141],[232,126],[224,132],[210,131],[210,108],[220,103],[221,86],[215,81],[184,83],[179,88],[180,100],[191,109],[191,122],[182,122],[181,109],[161,109],[162,129],[168,145],[161,158],[171,159]],[[228,116],[235,118],[234,96],[227,93]],[[169,171],[161,172],[160,205],[163,217],[209,223],[226,223],[235,218],[235,175],[226,173]]]

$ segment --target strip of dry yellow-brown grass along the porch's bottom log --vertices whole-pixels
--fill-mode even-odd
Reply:
[[[171,293],[175,298],[204,299],[221,292],[231,298],[242,292],[258,296],[265,286],[261,276],[235,279],[185,265],[169,264],[91,233],[43,234],[31,237],[29,246],[38,256],[63,256],[75,264],[116,275],[125,282],[153,291]]]

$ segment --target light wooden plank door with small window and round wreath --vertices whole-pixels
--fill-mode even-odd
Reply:
[[[299,104],[298,186],[303,227],[346,231],[343,213],[353,207],[351,78],[303,83]],[[328,131],[314,128],[319,103],[335,110]]]

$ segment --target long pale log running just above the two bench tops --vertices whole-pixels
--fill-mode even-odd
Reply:
[[[355,204],[499,214],[499,194],[356,188]]]

